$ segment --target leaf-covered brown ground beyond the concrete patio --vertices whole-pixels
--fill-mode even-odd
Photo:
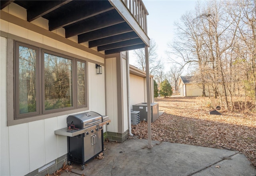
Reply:
[[[222,115],[206,111],[208,98],[171,96],[156,98],[162,114],[151,124],[152,140],[240,151],[256,167],[256,114]],[[147,139],[147,122],[132,125],[132,133]]]

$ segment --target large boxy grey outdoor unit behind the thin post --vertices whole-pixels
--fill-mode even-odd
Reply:
[[[148,105],[147,103],[139,103],[132,105],[133,111],[140,111],[140,121],[148,121]],[[151,122],[156,121],[159,117],[158,103],[150,103]]]

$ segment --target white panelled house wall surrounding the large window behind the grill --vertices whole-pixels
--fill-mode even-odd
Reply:
[[[26,20],[26,10],[11,3],[3,9],[5,12],[18,16]],[[40,18],[32,23],[48,29],[47,20]],[[78,56],[94,60],[104,64],[104,58],[95,56],[83,50],[74,48],[52,38],[32,32],[26,28],[14,25],[10,22],[1,20],[1,31],[8,34],[45,44],[53,49],[76,54]],[[64,29],[54,30],[56,34],[64,36]],[[77,40],[72,38],[72,40]],[[13,126],[7,126],[7,97],[6,94],[6,53],[7,40],[1,37],[1,58],[0,58],[0,175],[1,176],[20,176],[26,175],[56,158],[67,154],[66,136],[54,134],[54,130],[66,127],[66,118],[70,114],[56,116],[44,120],[28,122]],[[28,43],[29,44],[29,43]],[[102,74],[97,75],[95,63],[88,63],[88,101],[89,111],[93,110],[105,115],[105,68],[102,66]],[[112,71],[116,70],[112,69]],[[112,82],[112,81],[111,81]],[[113,91],[114,92],[114,91]],[[114,95],[113,95],[114,96]],[[75,113],[76,114],[76,113]],[[112,119],[111,119],[112,120]],[[112,124],[112,123],[111,123]],[[114,128],[115,124],[112,124]]]

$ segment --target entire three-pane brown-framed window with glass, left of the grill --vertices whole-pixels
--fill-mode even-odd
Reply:
[[[15,66],[15,119],[87,107],[86,61],[16,42]]]

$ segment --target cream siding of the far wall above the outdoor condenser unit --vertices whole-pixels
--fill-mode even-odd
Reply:
[[[130,106],[145,102],[144,78],[130,74]]]

